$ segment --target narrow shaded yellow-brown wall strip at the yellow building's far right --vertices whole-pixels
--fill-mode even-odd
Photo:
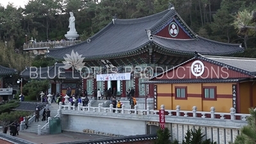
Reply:
[[[249,113],[251,84],[252,83],[240,83],[240,113]]]

